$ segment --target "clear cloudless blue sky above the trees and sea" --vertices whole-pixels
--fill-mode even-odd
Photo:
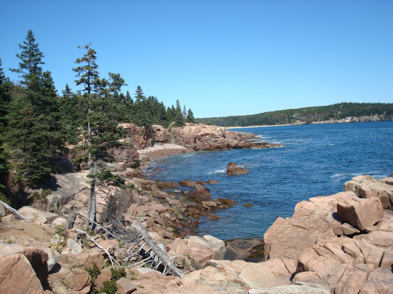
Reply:
[[[56,88],[92,43],[101,76],[195,117],[393,102],[393,1],[4,1],[0,58],[13,80],[32,29]]]

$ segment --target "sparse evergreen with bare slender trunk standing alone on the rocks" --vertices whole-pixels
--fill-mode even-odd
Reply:
[[[110,170],[99,169],[99,165],[105,161],[113,161],[114,158],[108,151],[122,144],[119,139],[123,138],[125,130],[117,127],[118,122],[114,113],[117,105],[121,104],[119,98],[121,87],[126,84],[120,74],[109,73],[109,80],[100,79],[97,72],[98,65],[95,62],[97,53],[89,45],[84,46],[84,49],[86,53],[75,61],[76,64],[81,65],[73,71],[80,77],[79,80],[75,80],[75,83],[84,86],[88,98],[87,158],[90,172],[87,177],[90,179],[90,197],[87,217],[91,216],[92,220],[96,221],[96,186],[107,189],[110,189],[109,186],[125,187],[121,177],[112,174]],[[88,226],[89,222],[86,221],[86,230]],[[95,229],[93,223],[92,230]]]

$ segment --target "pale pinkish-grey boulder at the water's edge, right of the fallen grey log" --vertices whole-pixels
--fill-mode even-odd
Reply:
[[[211,259],[224,259],[225,252],[224,241],[213,236],[190,236],[187,241],[187,254],[194,269],[204,269]]]

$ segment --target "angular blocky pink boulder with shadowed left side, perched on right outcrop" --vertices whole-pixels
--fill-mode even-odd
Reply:
[[[343,199],[337,203],[337,212],[343,220],[360,230],[373,226],[384,216],[378,197]]]

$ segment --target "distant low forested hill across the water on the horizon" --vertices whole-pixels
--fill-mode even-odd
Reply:
[[[393,103],[352,103],[343,102],[327,106],[303,107],[269,111],[259,114],[198,118],[198,122],[210,123],[220,127],[247,127],[249,125],[284,125],[294,122],[319,122],[331,118],[342,119],[348,116],[393,114]]]

